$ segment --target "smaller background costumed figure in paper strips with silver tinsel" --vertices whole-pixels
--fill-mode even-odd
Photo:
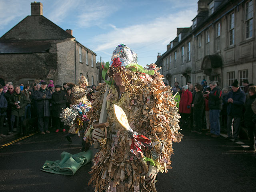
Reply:
[[[68,135],[66,135],[66,137],[69,138],[68,140],[70,142],[70,136],[74,136],[74,134],[80,136],[80,130],[84,130],[83,132],[85,132],[88,125],[89,119],[87,118],[87,112],[92,105],[86,97],[86,94],[91,91],[91,89],[87,89],[86,86],[88,86],[88,81],[86,77],[81,76],[78,85],[72,87],[72,107],[64,109],[60,116],[62,122],[69,126]],[[86,149],[88,149],[88,146]]]

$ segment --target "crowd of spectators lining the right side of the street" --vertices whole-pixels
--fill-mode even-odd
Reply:
[[[230,88],[222,88],[217,82],[206,80],[201,84],[187,82],[180,88],[175,82],[172,88],[174,100],[181,116],[181,128],[218,138],[221,124],[227,139],[239,140],[240,127],[247,128],[250,140],[249,150],[255,150],[256,86],[243,80],[242,87],[234,80]]]

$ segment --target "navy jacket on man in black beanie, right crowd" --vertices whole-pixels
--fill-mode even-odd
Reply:
[[[233,99],[233,103],[228,103],[229,98]],[[228,104],[227,114],[230,116],[242,117],[245,100],[246,95],[241,88],[236,92],[230,91],[225,99],[225,102]]]

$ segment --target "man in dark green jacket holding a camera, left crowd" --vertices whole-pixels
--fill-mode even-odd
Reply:
[[[22,130],[22,122],[24,120],[25,116],[25,107],[28,103],[28,100],[26,98],[26,95],[20,91],[20,86],[14,87],[14,94],[12,94],[10,98],[10,106],[12,107],[12,113],[11,113],[11,131],[8,132],[8,134],[12,134],[13,131],[16,131],[14,129],[14,123],[16,122],[16,127],[19,126],[19,134],[23,134]]]

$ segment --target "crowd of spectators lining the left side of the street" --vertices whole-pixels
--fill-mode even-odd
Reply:
[[[10,135],[14,132],[25,134],[22,122],[31,118],[36,118],[40,134],[50,133],[49,126],[55,132],[66,132],[66,126],[60,121],[60,114],[64,108],[71,106],[73,85],[68,87],[66,82],[63,86],[54,85],[52,80],[42,80],[33,84],[31,89],[29,84],[0,84],[0,139],[6,137],[3,134],[4,126],[8,126],[7,132]],[[92,91],[87,95],[89,100],[92,100],[95,89],[96,86],[92,85]]]

